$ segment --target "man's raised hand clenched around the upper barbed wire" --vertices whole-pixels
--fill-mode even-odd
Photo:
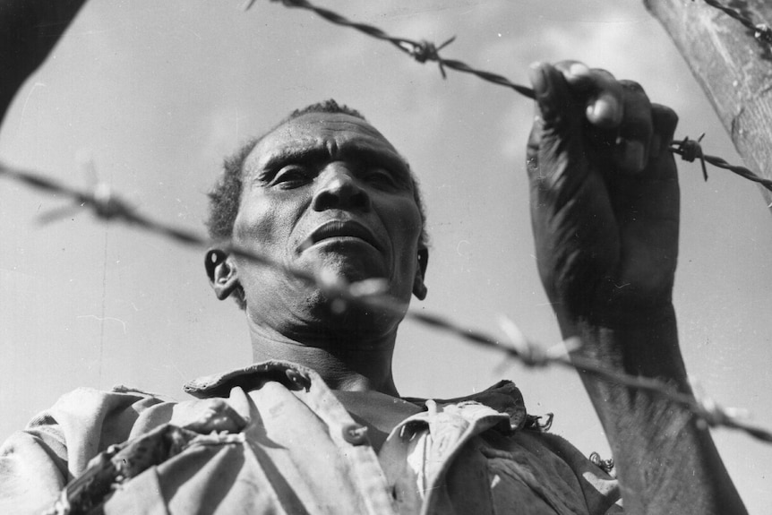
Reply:
[[[677,116],[635,82],[576,61],[535,64],[528,176],[541,279],[561,317],[627,323],[670,306]]]

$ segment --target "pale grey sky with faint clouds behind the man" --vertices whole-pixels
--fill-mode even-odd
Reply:
[[[321,1],[321,0],[320,0]],[[422,0],[324,4],[410,39],[456,41],[443,56],[526,83],[528,64],[579,59],[641,82],[680,115],[676,136],[742,160],[665,31],[633,0]],[[696,4],[695,4],[696,5]],[[536,274],[525,142],[532,102],[278,3],[87,4],[19,91],[0,160],[68,185],[110,186],[135,208],[200,230],[222,159],[296,107],[334,98],[377,126],[420,177],[432,238],[429,295],[413,307],[501,334],[560,340]],[[695,7],[696,8],[696,7]],[[701,7],[707,8],[707,7]],[[680,164],[682,237],[674,303],[691,377],[772,429],[772,218],[756,185]],[[251,363],[244,314],[218,302],[203,254],[0,179],[0,439],[79,386],[126,384],[184,399],[184,382]],[[608,445],[575,373],[529,370],[406,322],[403,395],[450,398],[508,378],[529,412],[581,451]],[[772,502],[772,446],[714,438],[751,513]]]

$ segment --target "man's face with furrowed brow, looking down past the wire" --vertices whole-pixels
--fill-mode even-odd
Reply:
[[[373,126],[343,114],[299,116],[257,144],[243,182],[237,245],[349,282],[387,279],[407,303],[421,214],[407,164]],[[252,316],[302,317],[321,298],[277,270],[238,262],[238,275]]]

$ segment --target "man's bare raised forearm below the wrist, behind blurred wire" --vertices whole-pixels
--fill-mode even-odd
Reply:
[[[672,305],[624,320],[562,323],[584,352],[616,372],[653,377],[691,395]],[[611,444],[629,513],[745,513],[708,428],[656,394],[579,372]]]

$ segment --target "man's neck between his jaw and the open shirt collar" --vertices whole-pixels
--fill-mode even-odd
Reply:
[[[332,390],[380,391],[399,396],[391,375],[396,331],[362,340],[338,338],[327,331],[305,331],[287,337],[247,317],[255,362],[291,361],[312,368]]]

